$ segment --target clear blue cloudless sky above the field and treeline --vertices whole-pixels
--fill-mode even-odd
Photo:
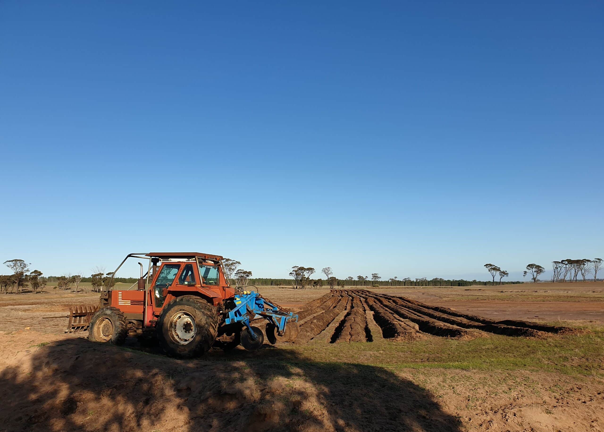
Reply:
[[[0,262],[89,274],[202,251],[264,277],[521,279],[602,257],[603,18],[597,1],[1,2]]]

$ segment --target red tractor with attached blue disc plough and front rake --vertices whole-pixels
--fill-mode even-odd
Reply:
[[[126,256],[114,276],[129,258],[149,260],[147,272],[143,274],[139,262],[138,283],[131,289],[101,291],[98,310],[87,314],[85,324],[70,320],[72,329],[85,329],[89,319],[92,341],[119,345],[127,336],[156,337],[168,355],[181,358],[201,355],[215,343],[224,349],[238,344],[259,349],[264,336],[251,326],[259,318],[268,320],[266,335],[272,343],[292,341],[298,334],[298,315],[281,311],[256,292],[231,287],[220,256],[134,253]],[[75,316],[77,310],[72,311]]]

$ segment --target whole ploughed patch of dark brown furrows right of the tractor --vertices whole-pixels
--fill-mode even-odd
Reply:
[[[346,313],[342,315],[344,311]],[[544,338],[548,334],[582,332],[530,321],[489,320],[364,289],[332,289],[323,297],[307,303],[298,312],[302,325],[295,343],[306,343],[325,332],[329,332],[327,340],[332,343],[371,341],[373,337],[367,318],[369,312],[373,312],[373,320],[382,330],[382,337],[389,340],[414,341],[426,335],[468,340],[488,337],[490,333]],[[336,318],[338,323],[334,322]]]

